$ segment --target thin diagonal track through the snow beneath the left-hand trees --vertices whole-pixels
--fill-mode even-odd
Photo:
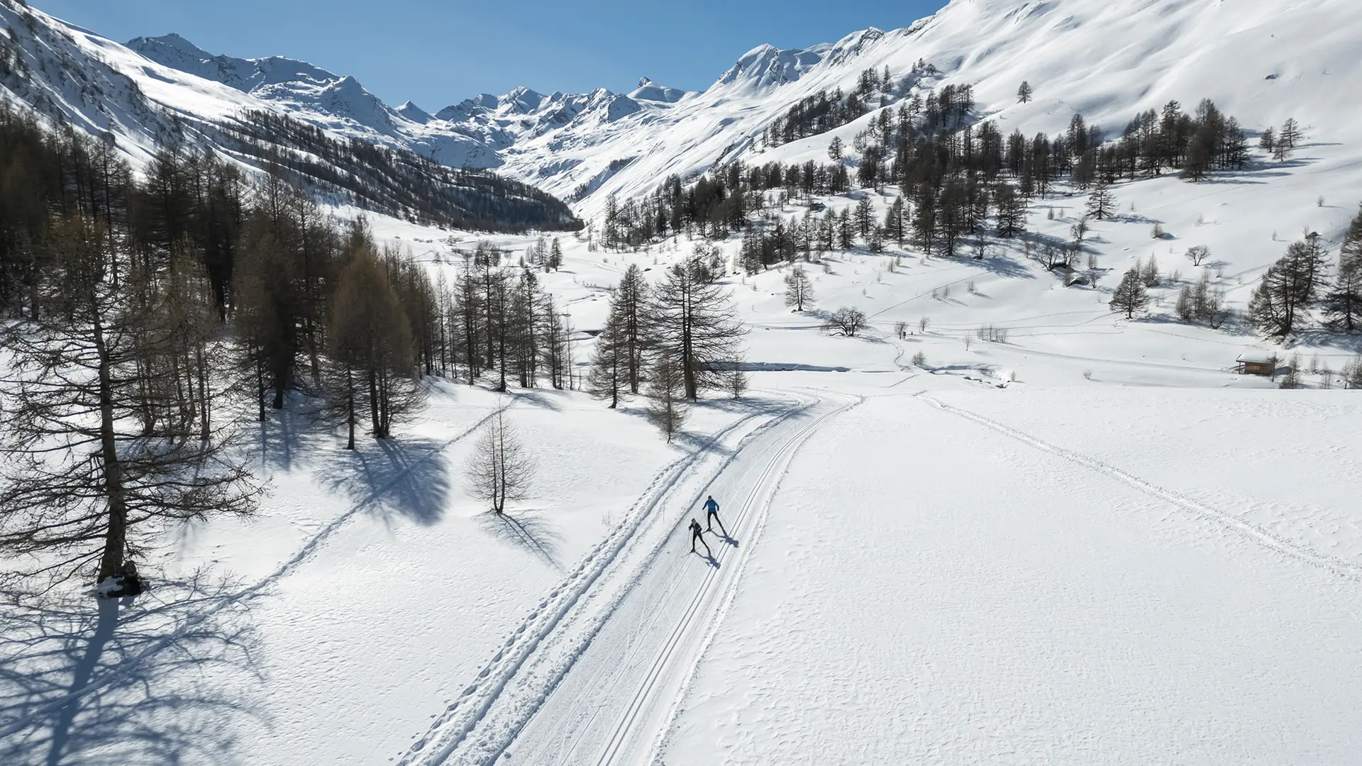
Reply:
[[[505,412],[507,408],[509,408],[509,406],[511,406],[511,403],[507,403],[507,405],[503,405],[503,406],[492,410],[490,413],[485,414],[481,420],[478,420],[477,423],[474,423],[473,425],[470,425],[469,428],[466,428],[464,431],[462,431],[456,436],[452,436],[452,438],[447,439],[439,447],[432,448],[429,453],[426,453],[421,458],[413,461],[411,465],[409,465],[409,466],[403,468],[400,472],[398,472],[392,477],[391,481],[385,482],[381,487],[376,487],[368,495],[365,495],[364,497],[361,497],[360,500],[357,500],[354,504],[351,504],[349,508],[346,508],[345,511],[342,511],[338,517],[335,517],[334,519],[331,519],[331,522],[327,526],[321,527],[321,530],[319,530],[316,534],[313,534],[301,548],[298,548],[298,551],[293,556],[290,556],[287,560],[285,560],[282,564],[279,564],[278,568],[275,568],[272,572],[270,572],[268,575],[266,575],[263,579],[260,579],[255,585],[247,586],[247,587],[244,587],[244,589],[241,589],[241,590],[238,590],[238,592],[236,592],[236,593],[233,593],[230,596],[225,596],[221,600],[218,600],[217,605],[214,605],[214,607],[211,607],[208,609],[204,609],[203,612],[200,612],[199,615],[196,615],[196,616],[193,616],[191,619],[187,619],[177,630],[174,630],[173,632],[168,634],[161,641],[155,641],[155,642],[150,643],[146,649],[143,649],[142,652],[139,652],[131,660],[128,660],[127,662],[123,662],[123,665],[117,671],[106,673],[106,675],[102,675],[98,680],[91,681],[90,684],[83,686],[80,688],[71,690],[69,694],[67,694],[67,695],[59,698],[59,699],[53,699],[52,702],[46,702],[44,705],[39,705],[39,706],[34,707],[33,710],[30,710],[29,713],[26,713],[23,717],[15,718],[14,721],[10,721],[7,725],[4,725],[3,728],[0,728],[0,739],[4,739],[7,736],[10,736],[10,735],[20,732],[20,731],[23,731],[26,728],[30,728],[31,725],[34,725],[37,722],[38,718],[48,716],[49,713],[52,713],[57,707],[68,705],[72,698],[84,696],[87,694],[93,692],[93,691],[97,691],[97,690],[99,690],[99,688],[102,688],[102,687],[105,687],[105,686],[108,686],[108,684],[118,680],[120,677],[125,676],[128,672],[131,672],[132,669],[135,669],[138,667],[138,664],[142,662],[143,660],[146,660],[147,657],[151,657],[157,652],[161,652],[162,649],[165,649],[168,646],[172,646],[173,643],[178,642],[181,638],[184,638],[185,635],[188,635],[189,632],[192,632],[193,630],[196,630],[200,624],[203,624],[204,620],[215,616],[217,613],[222,612],[227,607],[240,602],[242,598],[249,598],[249,597],[262,594],[266,589],[268,589],[270,586],[272,586],[274,583],[276,583],[278,581],[283,579],[290,572],[293,572],[294,570],[297,570],[300,566],[302,566],[308,559],[311,559],[321,548],[321,545],[327,541],[327,538],[330,538],[332,534],[335,534],[336,532],[339,532],[340,527],[343,527],[357,514],[360,514],[365,508],[373,506],[376,502],[381,500],[383,496],[387,495],[390,489],[392,489],[394,487],[396,487],[398,484],[400,484],[407,476],[411,474],[413,470],[415,470],[417,468],[425,465],[432,458],[434,458],[436,455],[444,453],[449,447],[452,447],[452,446],[458,444],[459,442],[467,439],[469,436],[471,436],[473,433],[475,433],[479,428],[482,428],[482,425],[485,425],[489,420],[492,420],[497,413]]]

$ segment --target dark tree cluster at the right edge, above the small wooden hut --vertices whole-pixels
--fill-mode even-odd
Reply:
[[[1291,243],[1286,255],[1268,267],[1249,301],[1249,318],[1272,338],[1308,328],[1317,313],[1336,333],[1362,330],[1362,211],[1343,237],[1331,274],[1320,234]]]

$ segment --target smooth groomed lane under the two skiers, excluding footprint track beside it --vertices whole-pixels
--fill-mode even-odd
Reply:
[[[820,393],[745,440],[699,491],[673,493],[681,510],[669,514],[666,536],[553,683],[527,705],[511,701],[464,747],[429,763],[646,763],[731,601],[786,468],[823,421],[858,401]],[[719,500],[729,530],[729,541],[706,536],[714,562],[691,555],[686,532],[692,517],[703,518],[706,495]]]

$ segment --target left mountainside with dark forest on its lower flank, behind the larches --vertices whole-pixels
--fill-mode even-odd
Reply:
[[[197,49],[181,38],[162,49],[176,53],[168,53],[168,60],[177,67],[223,82],[204,79],[18,0],[0,0],[0,99],[33,110],[49,124],[109,136],[135,166],[170,146],[212,150],[248,170],[266,168],[274,157],[291,184],[327,202],[445,225],[576,225],[561,202],[538,189],[489,174],[452,172],[430,159],[445,149],[462,151],[456,144],[467,139],[437,138],[424,151],[403,142],[390,142],[392,151],[351,143],[351,124],[388,120],[387,106],[351,78],[328,79],[315,67],[276,59],[197,60]],[[298,85],[300,78],[306,89]],[[350,117],[309,125],[291,116],[298,102],[290,112],[233,85],[275,99],[305,90],[328,113]],[[406,121],[395,114],[392,120]]]

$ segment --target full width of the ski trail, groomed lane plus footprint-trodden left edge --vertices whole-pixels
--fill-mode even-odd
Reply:
[[[617,755],[633,754],[625,750],[628,744],[651,744],[656,739],[651,735],[662,733],[659,716],[666,714],[669,720],[673,714],[671,703],[680,696],[680,681],[693,669],[700,639],[707,641],[711,635],[699,626],[711,622],[720,601],[730,600],[741,562],[757,534],[759,517],[790,458],[823,420],[854,403],[851,397],[819,393],[790,406],[746,435],[722,463],[704,472],[704,484],[688,482],[676,476],[677,466],[669,466],[635,504],[631,521],[621,525],[631,529],[617,530],[602,541],[479,673],[470,690],[482,686],[484,694],[462,699],[463,707],[471,710],[458,714],[460,703],[451,705],[399,765],[493,763],[503,756],[507,762],[522,763],[609,763],[618,762],[612,761]],[[686,462],[697,458],[686,458]],[[697,508],[707,493],[720,500],[720,518],[738,544],[731,549],[716,536],[707,536],[718,568],[684,548],[689,541],[685,526],[692,517],[703,515]],[[658,507],[667,511],[652,512]],[[654,522],[651,536],[633,529],[644,518]],[[656,541],[643,537],[656,537]],[[616,563],[617,557],[631,556],[621,551],[628,542],[644,548],[636,549],[631,562]],[[590,582],[572,589],[571,600],[580,608],[563,604],[545,620],[541,613],[556,597],[563,600],[560,592],[568,582],[579,578],[583,567],[595,568],[591,564],[601,548],[610,548],[612,553],[595,567],[616,566],[603,577],[598,572]],[[622,582],[594,585],[597,578]],[[612,587],[614,593],[599,593]],[[513,647],[535,620],[542,624],[533,631],[533,641]],[[509,654],[515,649],[512,658]],[[670,695],[659,692],[661,681],[670,683]],[[583,688],[597,706],[584,705]],[[464,696],[470,690],[464,690]],[[595,711],[601,705],[622,709],[601,716]],[[642,726],[643,721],[651,721],[652,726]],[[636,741],[644,733],[650,736]],[[573,755],[569,752],[572,743],[560,743],[567,737],[580,752]],[[537,743],[545,747],[537,748]]]

